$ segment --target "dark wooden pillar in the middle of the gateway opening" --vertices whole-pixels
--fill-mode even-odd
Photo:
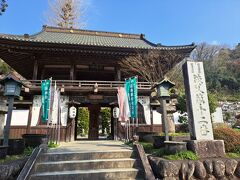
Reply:
[[[99,131],[99,114],[100,114],[100,105],[99,104],[90,104],[88,106],[89,110],[89,132],[88,139],[97,140],[98,139],[98,131]]]

